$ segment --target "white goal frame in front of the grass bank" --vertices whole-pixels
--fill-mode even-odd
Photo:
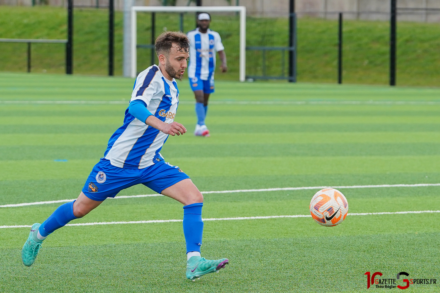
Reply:
[[[240,81],[246,78],[246,7],[245,6],[132,6],[131,15],[131,77],[137,76],[137,27],[136,12],[239,12],[240,13]]]

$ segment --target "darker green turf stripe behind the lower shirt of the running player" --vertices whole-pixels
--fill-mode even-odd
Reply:
[[[100,145],[12,145],[0,146],[0,160],[99,159],[106,149]],[[431,156],[440,155],[440,143],[254,143],[169,144],[161,150],[168,158],[179,154],[194,157],[264,157],[264,156]]]

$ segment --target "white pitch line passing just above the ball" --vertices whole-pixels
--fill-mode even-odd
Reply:
[[[307,190],[307,189],[323,189],[323,188],[336,188],[336,189],[346,189],[346,188],[385,188],[385,187],[427,187],[427,186],[440,186],[440,183],[418,183],[418,184],[381,184],[381,185],[349,185],[349,186],[303,186],[303,187],[282,187],[282,188],[261,188],[261,189],[236,189],[236,190],[217,190],[217,191],[202,191],[202,194],[221,194],[221,193],[237,193],[237,192],[265,192],[265,191],[287,191],[287,190]],[[129,199],[129,198],[139,198],[139,197],[153,197],[153,196],[163,196],[161,194],[139,194],[139,195],[120,195],[114,198],[109,197],[108,199]],[[60,200],[49,200],[43,202],[33,202],[33,203],[11,203],[6,205],[1,205],[2,207],[17,207],[17,206],[34,206],[49,203],[69,203],[75,199],[60,199]]]

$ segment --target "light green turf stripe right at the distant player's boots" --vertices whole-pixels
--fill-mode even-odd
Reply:
[[[0,145],[106,145],[109,134],[0,134]],[[440,132],[294,132],[294,133],[220,133],[212,137],[170,136],[167,145],[231,144],[334,144],[334,143],[437,143]]]

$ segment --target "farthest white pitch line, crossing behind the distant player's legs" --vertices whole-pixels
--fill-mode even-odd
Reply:
[[[180,101],[194,104],[193,101]],[[214,105],[440,105],[440,101],[210,101]],[[128,101],[0,101],[0,104],[128,105]]]

